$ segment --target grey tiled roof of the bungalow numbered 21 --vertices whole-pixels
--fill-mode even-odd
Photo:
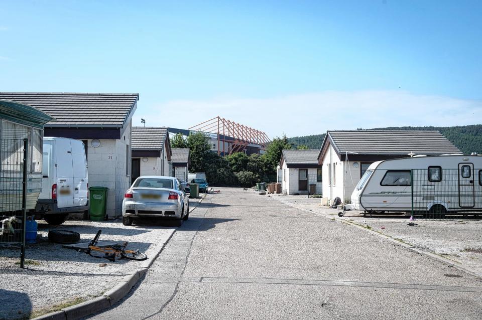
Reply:
[[[137,107],[137,93],[0,92],[0,99],[38,108],[55,120],[46,127],[123,127]]]

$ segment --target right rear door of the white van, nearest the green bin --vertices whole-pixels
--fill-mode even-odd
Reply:
[[[84,143],[70,140],[72,146],[72,165],[74,173],[74,207],[87,205],[87,159]]]

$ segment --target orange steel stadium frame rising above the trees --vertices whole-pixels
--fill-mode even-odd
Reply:
[[[248,144],[257,144],[261,150],[265,150],[267,143],[271,141],[263,131],[219,116],[196,124],[188,128],[188,130],[216,134],[217,154],[221,154],[221,152],[222,154],[226,154],[226,152],[227,154],[231,154],[233,152],[243,151]],[[220,147],[221,142],[222,148]],[[225,149],[226,142],[228,145],[230,143],[231,146]]]

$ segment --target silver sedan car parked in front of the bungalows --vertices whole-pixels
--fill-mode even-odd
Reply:
[[[179,180],[160,176],[137,178],[124,195],[122,223],[129,226],[138,217],[174,219],[178,226],[181,219],[187,220],[189,198]]]

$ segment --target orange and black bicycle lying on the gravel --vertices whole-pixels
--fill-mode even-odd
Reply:
[[[63,245],[62,247],[67,249],[73,249],[78,252],[87,253],[94,258],[105,258],[109,261],[115,261],[115,257],[122,259],[142,261],[147,259],[147,255],[140,252],[126,249],[128,242],[114,242],[114,241],[99,241],[100,233],[102,230],[97,231],[97,234],[90,242],[77,243]]]

